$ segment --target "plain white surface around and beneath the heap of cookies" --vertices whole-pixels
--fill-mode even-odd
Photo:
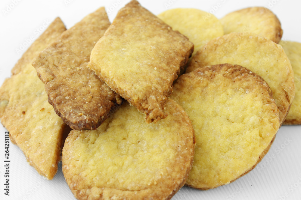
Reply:
[[[15,2],[16,5],[13,5]],[[16,3],[17,2],[17,3]],[[120,2],[120,4],[118,4]],[[21,57],[16,49],[37,38],[37,28],[44,22],[51,22],[59,16],[67,26],[72,27],[84,16],[98,7],[111,7],[112,21],[117,11],[129,0],[84,1],[84,0],[1,0],[0,2],[0,84],[11,75],[10,70]],[[176,7],[193,7],[213,13],[218,18],[225,14],[249,6],[269,7],[280,19],[284,30],[283,39],[301,42],[301,1],[191,1],[191,0],[141,0],[142,6],[154,14]],[[219,7],[217,7],[219,3]],[[112,7],[117,5],[116,8]],[[11,10],[4,14],[3,10]],[[41,27],[43,28],[43,27]],[[31,44],[33,41],[29,41]],[[27,48],[27,47],[26,47]],[[1,126],[1,125],[0,125]],[[53,180],[47,181],[26,163],[23,153],[10,142],[10,196],[4,195],[4,132],[0,127],[0,199],[9,200],[74,200],[67,186],[61,163]],[[261,163],[250,173],[231,184],[216,189],[199,191],[183,187],[172,199],[301,199],[301,126],[283,126],[277,133],[274,144]]]

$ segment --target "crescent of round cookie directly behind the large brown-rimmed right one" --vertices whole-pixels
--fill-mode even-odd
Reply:
[[[254,33],[230,33],[215,38],[192,58],[186,72],[208,65],[238,64],[261,76],[272,89],[283,123],[295,95],[294,74],[283,48]]]

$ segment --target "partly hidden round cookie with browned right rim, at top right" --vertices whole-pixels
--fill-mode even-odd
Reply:
[[[225,34],[252,32],[278,43],[282,37],[277,16],[265,7],[248,7],[231,12],[220,19]]]

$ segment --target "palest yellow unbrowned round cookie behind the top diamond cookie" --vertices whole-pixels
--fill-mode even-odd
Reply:
[[[199,9],[175,8],[160,13],[158,17],[194,43],[192,56],[213,38],[224,35],[219,19]]]

